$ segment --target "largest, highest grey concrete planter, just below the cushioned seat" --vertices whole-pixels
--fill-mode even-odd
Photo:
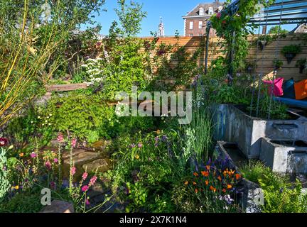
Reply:
[[[248,158],[259,158],[261,138],[307,141],[307,118],[264,120],[245,114],[234,105],[211,106],[214,137],[237,143]]]

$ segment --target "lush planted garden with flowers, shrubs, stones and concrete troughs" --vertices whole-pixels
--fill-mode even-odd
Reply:
[[[146,12],[134,1],[117,1],[100,38],[92,15],[104,0],[0,0],[0,212],[306,213],[306,111],[279,100],[289,89],[306,99],[306,87],[282,79],[281,96],[276,76],[292,61],[307,77],[306,35],[279,47],[274,76],[258,80],[263,60],[249,60],[250,48],[261,56],[289,37],[280,25],[254,34],[259,2],[274,4],[239,1],[230,13],[227,1],[210,18],[218,45],[201,37],[189,52],[177,33],[137,38]],[[208,49],[220,56],[207,67]],[[119,92],[135,97],[122,104]],[[170,111],[173,96],[149,105],[156,92],[185,94],[190,122]],[[270,156],[284,148],[286,167]]]

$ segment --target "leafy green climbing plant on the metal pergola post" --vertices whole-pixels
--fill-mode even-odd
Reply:
[[[218,37],[222,38],[222,48],[226,54],[225,66],[228,71],[235,72],[247,57],[249,43],[247,35],[253,33],[258,26],[254,23],[248,26],[249,19],[264,6],[274,3],[274,0],[240,0],[237,10],[231,9],[231,1],[225,3],[225,10],[210,18],[212,28]]]

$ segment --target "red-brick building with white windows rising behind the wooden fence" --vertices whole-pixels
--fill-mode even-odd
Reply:
[[[198,4],[195,8],[183,16],[184,36],[202,36],[205,35],[206,23],[215,13],[222,11],[224,2],[215,0],[212,3]],[[210,35],[215,31],[211,30]]]

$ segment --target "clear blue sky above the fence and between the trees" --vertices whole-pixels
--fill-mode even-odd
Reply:
[[[143,4],[143,11],[147,12],[147,17],[144,18],[141,24],[141,32],[139,37],[151,36],[151,31],[158,31],[160,16],[163,18],[165,35],[175,35],[176,31],[179,35],[183,35],[183,18],[188,11],[194,9],[200,3],[211,3],[215,0],[134,0]],[[126,0],[129,4],[130,0]],[[117,15],[114,11],[117,8],[117,0],[105,0],[103,9],[98,16],[95,14],[95,21],[102,26],[101,35],[109,34],[109,27],[112,21],[117,20]],[[82,26],[85,29],[87,26]],[[288,30],[292,30],[293,26],[282,26]],[[270,27],[269,27],[270,28]],[[269,30],[268,28],[268,30]]]

